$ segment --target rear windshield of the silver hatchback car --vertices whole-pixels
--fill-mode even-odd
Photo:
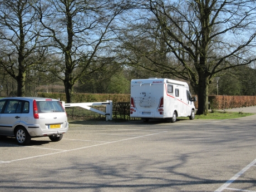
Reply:
[[[39,113],[65,112],[59,101],[36,101]]]

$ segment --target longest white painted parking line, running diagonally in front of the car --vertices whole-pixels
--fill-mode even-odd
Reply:
[[[33,159],[33,158],[36,158],[36,157],[43,157],[43,156],[48,156],[48,155],[60,154],[60,153],[62,153],[62,152],[70,152],[70,151],[75,151],[75,150],[80,150],[80,149],[86,149],[86,148],[95,147],[95,146],[100,146],[100,145],[112,144],[112,143],[115,143],[115,142],[121,142],[121,141],[126,141],[126,140],[131,140],[131,139],[137,139],[137,138],[140,138],[140,137],[146,137],[146,136],[151,136],[151,135],[156,135],[156,134],[163,134],[164,132],[168,132],[168,131],[156,132],[156,133],[154,133],[154,134],[141,135],[141,136],[131,137],[131,138],[128,138],[128,139],[122,139],[122,140],[112,141],[112,142],[105,142],[105,143],[103,143],[103,144],[85,146],[85,147],[80,147],[80,148],[76,148],[76,149],[63,150],[63,151],[58,151],[58,152],[52,152],[52,153],[50,153],[50,154],[36,155],[36,156],[31,156],[31,157],[25,157],[25,158],[22,158],[22,159],[15,159],[15,160],[11,160],[11,161],[4,161],[4,163],[12,163],[12,162],[15,162],[15,161]],[[1,164],[3,164],[3,163],[1,163]]]

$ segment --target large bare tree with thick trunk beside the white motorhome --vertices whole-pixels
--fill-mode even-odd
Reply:
[[[256,60],[255,1],[144,2],[149,11],[143,18],[147,30],[140,29],[140,33],[135,34],[140,42],[152,44],[149,50],[149,47],[137,46],[137,42],[129,43],[129,51],[136,57],[126,58],[141,67],[190,82],[198,95],[197,114],[208,114],[208,86],[214,77]],[[142,58],[146,58],[149,65],[141,62]]]

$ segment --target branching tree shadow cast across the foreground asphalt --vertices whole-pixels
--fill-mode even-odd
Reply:
[[[18,180],[17,175],[2,178],[0,189],[13,191],[183,191],[212,192],[223,185],[226,180],[211,179],[193,172],[189,167],[189,154],[177,154],[173,161],[147,159],[141,156],[122,156],[108,160],[83,160],[72,157],[70,166],[58,165],[51,169],[32,169],[38,175],[27,176]],[[124,163],[126,159],[130,159]],[[199,166],[200,168],[200,166]],[[213,170],[216,172],[216,170]],[[235,183],[249,184],[248,189],[255,187],[255,180],[238,179]]]

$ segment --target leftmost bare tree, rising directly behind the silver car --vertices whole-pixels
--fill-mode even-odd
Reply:
[[[25,96],[26,73],[45,53],[37,21],[28,0],[0,2],[0,65],[17,81],[17,96]]]

